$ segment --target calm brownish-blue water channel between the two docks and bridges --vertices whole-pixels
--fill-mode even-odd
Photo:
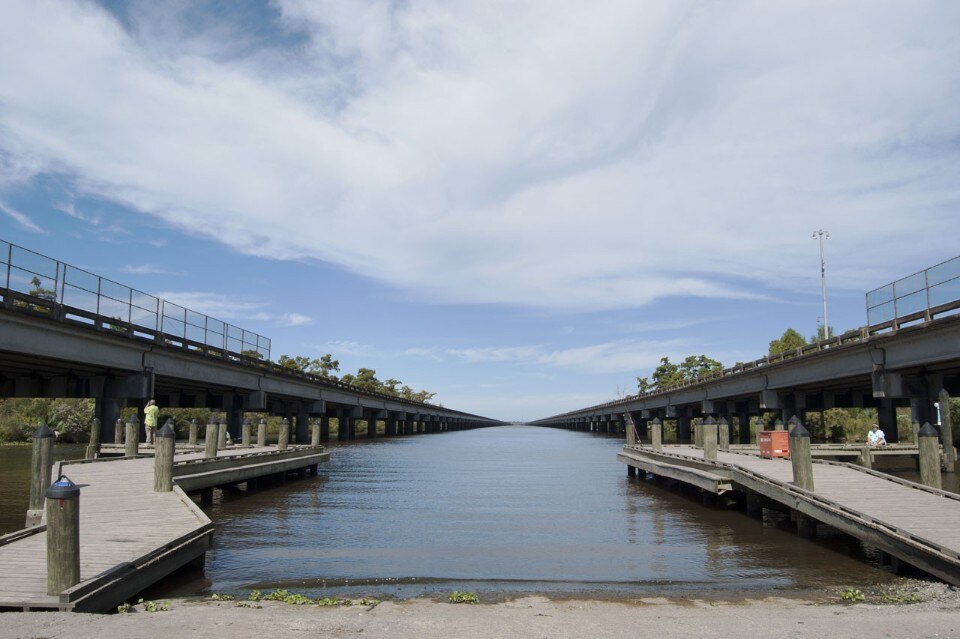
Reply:
[[[319,477],[218,497],[206,574],[150,594],[618,596],[891,579],[856,541],[803,540],[775,516],[760,524],[630,479],[616,461],[621,446],[524,426],[334,445]],[[9,493],[0,478],[0,495]],[[22,501],[4,530],[22,525]],[[0,502],[3,517],[10,503]]]

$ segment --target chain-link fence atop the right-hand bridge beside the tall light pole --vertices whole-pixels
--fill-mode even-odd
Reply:
[[[908,275],[866,295],[867,324],[875,326],[921,315],[930,319],[960,300],[960,257]]]

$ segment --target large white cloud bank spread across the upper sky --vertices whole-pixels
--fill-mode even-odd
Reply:
[[[4,3],[0,166],[448,302],[792,290],[821,225],[834,287],[955,253],[957,3],[276,6],[307,41],[239,55]]]

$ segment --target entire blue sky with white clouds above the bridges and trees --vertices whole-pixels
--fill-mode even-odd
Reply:
[[[960,254],[960,3],[0,2],[0,238],[531,420]]]

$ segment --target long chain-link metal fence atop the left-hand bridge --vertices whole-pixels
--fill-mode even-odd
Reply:
[[[270,360],[270,340],[262,335],[3,240],[0,277],[8,306],[192,350]]]

